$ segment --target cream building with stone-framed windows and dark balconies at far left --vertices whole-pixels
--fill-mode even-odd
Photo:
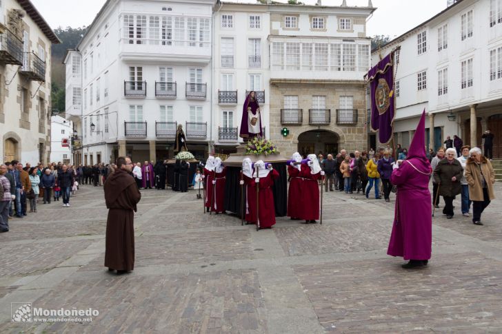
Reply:
[[[0,157],[50,156],[50,46],[60,43],[28,0],[0,1]]]

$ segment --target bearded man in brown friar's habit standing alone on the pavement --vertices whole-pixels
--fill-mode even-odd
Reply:
[[[134,211],[141,200],[134,178],[130,175],[130,158],[117,158],[117,168],[104,185],[108,220],[106,220],[105,267],[128,273],[134,269]]]

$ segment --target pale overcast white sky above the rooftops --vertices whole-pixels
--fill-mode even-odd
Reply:
[[[52,29],[90,25],[106,0],[31,0]],[[224,0],[223,0],[224,1]],[[275,0],[287,2],[287,0]],[[300,0],[314,5],[317,0]],[[367,6],[368,0],[346,0],[348,6]],[[252,2],[255,0],[232,0]],[[322,0],[325,6],[340,6],[342,0]],[[368,20],[368,36],[383,34],[394,38],[411,30],[446,8],[446,0],[372,0],[378,8]],[[57,10],[54,10],[56,9]]]

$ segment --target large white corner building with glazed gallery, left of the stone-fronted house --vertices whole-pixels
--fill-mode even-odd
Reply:
[[[190,152],[204,156],[214,2],[106,1],[64,62],[66,112],[80,118],[83,164],[172,157],[179,124]]]

